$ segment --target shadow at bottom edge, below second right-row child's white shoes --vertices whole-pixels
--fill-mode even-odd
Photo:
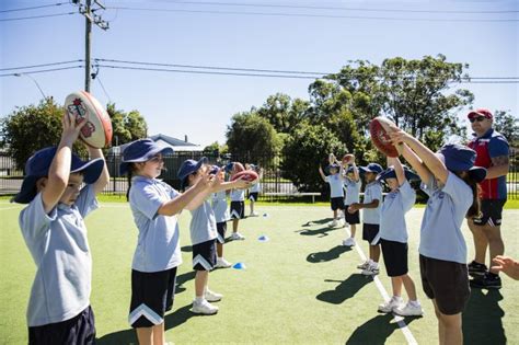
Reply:
[[[419,318],[405,318],[405,324],[410,324]],[[399,330],[399,323],[393,321],[392,314],[379,314],[364,324],[359,325],[346,341],[346,344],[385,344],[388,337]]]

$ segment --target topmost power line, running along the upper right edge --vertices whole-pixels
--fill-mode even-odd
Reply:
[[[152,0],[153,1],[153,0]],[[252,7],[252,8],[281,8],[281,9],[303,9],[303,10],[338,10],[338,11],[362,11],[362,12],[396,12],[396,13],[457,13],[457,14],[497,14],[517,13],[516,10],[501,11],[458,11],[458,10],[405,10],[405,9],[369,9],[348,7],[322,7],[322,5],[296,5],[296,4],[266,4],[266,3],[235,3],[235,2],[207,2],[207,1],[160,1],[169,4],[195,4],[195,5],[228,5],[228,7]]]

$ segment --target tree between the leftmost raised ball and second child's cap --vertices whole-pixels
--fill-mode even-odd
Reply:
[[[106,105],[112,119],[112,146],[120,146],[148,136],[148,125],[138,111],[125,113],[115,107],[115,103]]]

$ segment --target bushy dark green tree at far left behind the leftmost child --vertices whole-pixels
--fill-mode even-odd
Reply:
[[[19,169],[23,169],[37,150],[59,143],[62,115],[64,107],[53,99],[46,99],[38,105],[18,107],[2,119],[2,146]],[[73,149],[80,156],[86,154],[82,143],[74,143]]]

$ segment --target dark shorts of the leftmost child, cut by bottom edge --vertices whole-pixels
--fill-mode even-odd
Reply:
[[[30,345],[94,344],[94,312],[89,306],[72,319],[28,327]]]

